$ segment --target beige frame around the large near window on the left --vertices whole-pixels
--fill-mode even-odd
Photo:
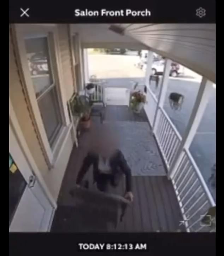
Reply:
[[[57,91],[57,100],[59,104],[59,111],[61,116],[61,127],[55,140],[50,145],[46,130],[42,121],[36,93],[34,90],[33,81],[31,79],[28,61],[26,58],[25,49],[25,37],[28,35],[34,35],[34,38],[46,37],[48,39],[48,51],[50,57],[51,72],[53,78],[53,84]],[[13,24],[12,36],[14,40],[15,53],[18,57],[18,69],[21,77],[21,82],[24,86],[24,91],[27,99],[27,103],[31,109],[31,118],[36,128],[37,137],[41,142],[42,150],[48,160],[48,168],[51,169],[54,166],[55,154],[57,152],[57,146],[63,131],[70,124],[69,116],[67,113],[66,94],[63,89],[63,80],[61,78],[61,64],[59,54],[59,39],[56,24]],[[49,86],[51,87],[51,86]],[[48,90],[49,88],[47,88]]]

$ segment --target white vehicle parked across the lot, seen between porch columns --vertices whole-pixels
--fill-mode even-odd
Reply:
[[[146,69],[146,63],[142,63],[141,69]],[[154,61],[152,64],[152,75],[162,75],[164,71],[165,60]],[[170,76],[177,77],[181,74],[180,65],[176,62],[171,63]]]

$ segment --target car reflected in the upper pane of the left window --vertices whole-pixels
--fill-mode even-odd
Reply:
[[[48,73],[47,57],[42,54],[35,54],[29,60],[29,69],[33,76]]]

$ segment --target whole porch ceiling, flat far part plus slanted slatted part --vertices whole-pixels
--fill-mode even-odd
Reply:
[[[152,49],[216,83],[216,24],[73,24],[83,47]]]

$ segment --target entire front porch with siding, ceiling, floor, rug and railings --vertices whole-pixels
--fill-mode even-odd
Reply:
[[[30,197],[36,208],[30,207],[24,197],[28,194],[23,195],[25,200],[21,201],[23,205],[20,202],[19,215],[16,214],[19,226],[10,227],[10,232],[49,231],[56,208],[52,232],[216,231],[215,225],[201,223],[203,216],[210,216],[208,210],[216,203],[201,174],[203,168],[196,164],[189,150],[216,81],[215,25],[117,26],[123,30],[122,35],[114,33],[110,24],[11,26],[10,129],[13,135],[10,136],[15,139],[10,141],[10,155],[17,159],[29,195],[39,202]],[[153,31],[170,31],[171,41],[163,40],[160,32],[155,36]],[[180,39],[183,37],[182,40],[176,40],[176,33]],[[197,40],[192,41],[195,35]],[[192,47],[184,45],[186,37]],[[201,47],[207,44],[203,38],[210,38],[211,45]],[[90,130],[80,138],[79,147],[74,145],[76,130],[68,105],[71,97],[82,95],[90,82],[87,48],[94,47],[148,51],[145,80],[142,81],[147,102],[141,115],[133,114],[127,106],[120,106],[129,104],[128,96],[134,89],[128,85],[130,81],[122,81],[127,86],[117,81],[107,85],[100,82],[107,96],[110,95],[105,97],[105,103],[114,105],[106,107],[105,122],[117,126],[116,132],[122,139],[121,150],[125,158],[129,158],[132,170],[134,202],[116,230],[98,222],[99,216],[92,216],[94,225],[91,220],[88,222],[87,216],[78,216],[69,194],[93,136]],[[153,52],[165,58],[158,97],[149,86]],[[41,65],[39,60],[43,62]],[[164,109],[172,61],[202,76],[198,92],[194,93],[196,97],[190,98],[192,109],[182,134]],[[101,125],[99,118],[94,117],[92,128],[98,125]],[[211,177],[214,178],[215,173]],[[36,186],[29,185],[30,178],[37,179]],[[91,171],[88,179],[91,183]],[[119,185],[114,192],[123,195],[125,188],[122,183]],[[42,216],[50,211],[50,220],[42,228]]]

